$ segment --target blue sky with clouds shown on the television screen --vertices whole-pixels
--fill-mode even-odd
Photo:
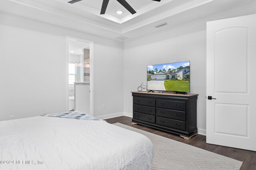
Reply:
[[[169,68],[173,70],[173,69],[177,69],[180,66],[183,66],[183,67],[190,66],[190,62],[184,61],[184,62],[178,62],[178,63],[154,64],[154,65],[148,65],[147,69],[149,71],[149,70],[155,70],[157,68],[159,71],[160,69],[163,70],[165,68],[165,70],[168,71]]]

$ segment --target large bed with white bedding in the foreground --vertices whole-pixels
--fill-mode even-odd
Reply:
[[[0,160],[14,161],[0,170],[148,170],[152,159],[146,136],[105,121],[37,116],[0,122]]]

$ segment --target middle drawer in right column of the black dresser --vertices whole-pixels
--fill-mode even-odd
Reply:
[[[186,112],[184,111],[156,108],[156,115],[182,121],[186,120]]]

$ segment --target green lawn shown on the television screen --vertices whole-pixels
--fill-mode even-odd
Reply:
[[[164,87],[166,91],[189,92],[189,82],[183,80],[165,81]]]

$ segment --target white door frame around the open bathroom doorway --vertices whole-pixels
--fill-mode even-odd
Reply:
[[[68,41],[80,41],[83,43],[89,43],[90,44],[90,115],[94,116],[94,41],[87,40],[87,39],[81,39],[77,37],[71,37],[71,36],[66,36],[66,92],[67,92],[67,107],[66,110],[69,111],[69,95],[68,95],[68,63],[69,63],[69,43]]]

